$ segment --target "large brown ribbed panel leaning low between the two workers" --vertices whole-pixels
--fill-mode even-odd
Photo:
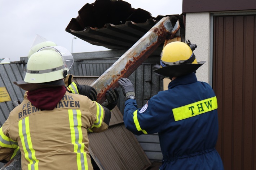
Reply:
[[[91,155],[104,170],[145,170],[151,165],[137,139],[123,124],[100,133],[100,141],[96,133],[88,136]]]

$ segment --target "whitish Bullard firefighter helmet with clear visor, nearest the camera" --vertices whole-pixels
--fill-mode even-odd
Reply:
[[[73,56],[64,47],[43,47],[27,62],[27,83],[45,83],[66,77],[73,64]]]

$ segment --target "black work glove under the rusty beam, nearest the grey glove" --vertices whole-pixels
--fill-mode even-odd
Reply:
[[[107,107],[107,109],[112,110],[114,109],[114,107],[116,106],[117,102],[118,102],[118,98],[119,98],[119,92],[117,90],[117,88],[115,88],[114,90],[112,88],[110,88],[107,92],[106,92],[106,100],[102,103],[102,106]]]

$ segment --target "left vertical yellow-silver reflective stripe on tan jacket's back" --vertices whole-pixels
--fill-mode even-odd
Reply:
[[[28,170],[38,170],[38,162],[36,159],[35,150],[32,146],[29,117],[19,120],[19,137],[21,138],[22,148],[25,153],[25,158],[29,162]]]

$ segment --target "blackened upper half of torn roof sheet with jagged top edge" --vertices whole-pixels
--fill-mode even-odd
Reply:
[[[69,28],[78,31],[86,27],[102,28],[105,23],[114,25],[124,24],[127,20],[135,23],[146,22],[153,18],[143,9],[134,9],[125,1],[96,0],[92,4],[85,4],[78,12],[78,17],[72,19]]]

